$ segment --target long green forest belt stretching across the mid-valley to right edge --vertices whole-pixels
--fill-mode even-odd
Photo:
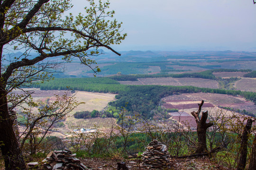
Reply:
[[[95,79],[95,81],[91,81]],[[93,83],[94,82],[94,83]],[[108,84],[105,84],[107,82]],[[162,85],[120,85],[116,80],[107,77],[96,78],[59,78],[40,85],[41,90],[73,90],[118,93],[116,101],[110,102],[115,108],[125,107],[131,113],[140,113],[146,119],[153,118],[161,99],[165,96],[179,93],[220,93],[233,96],[241,95],[256,103],[256,93],[238,90],[210,89],[194,86],[162,86]]]

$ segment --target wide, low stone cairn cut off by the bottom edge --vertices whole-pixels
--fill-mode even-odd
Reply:
[[[46,170],[88,170],[75,155],[67,148],[63,151],[51,151],[43,160],[44,167]]]

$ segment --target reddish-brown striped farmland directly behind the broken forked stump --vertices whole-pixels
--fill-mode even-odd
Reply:
[[[162,99],[163,107],[166,109],[178,109],[178,112],[169,113],[171,118],[183,125],[196,127],[196,122],[191,112],[198,110],[198,104],[204,100],[202,110],[208,110],[210,116],[214,117],[221,107],[229,107],[234,110],[246,110],[256,115],[256,105],[253,102],[246,101],[242,97],[234,97],[227,94],[217,93],[183,93],[171,95]],[[231,110],[225,110],[226,115],[234,114]],[[235,113],[240,114],[240,113]]]

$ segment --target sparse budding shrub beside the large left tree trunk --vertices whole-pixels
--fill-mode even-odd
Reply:
[[[37,151],[47,151],[47,139],[49,139],[51,128],[60,126],[60,123],[63,124],[60,120],[82,103],[77,102],[73,96],[68,97],[67,94],[55,95],[55,97],[54,102],[47,102],[43,105],[32,100],[27,102],[28,106],[22,113],[24,119],[18,122],[25,129],[18,136],[23,152],[36,154]]]

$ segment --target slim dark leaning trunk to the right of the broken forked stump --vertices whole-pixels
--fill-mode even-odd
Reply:
[[[252,119],[248,119],[241,135],[240,158],[237,170],[244,170],[246,166],[248,134],[250,133],[251,127]]]

